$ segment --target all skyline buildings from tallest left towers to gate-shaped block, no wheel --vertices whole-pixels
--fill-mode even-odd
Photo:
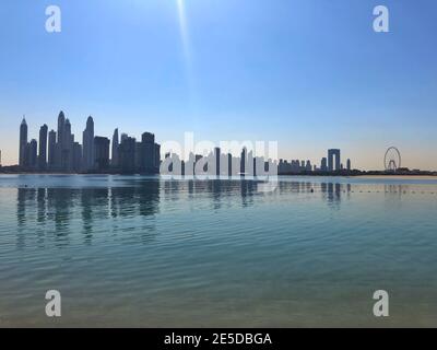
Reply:
[[[39,129],[39,140],[27,139],[27,122],[25,118],[20,126],[20,168],[28,172],[60,173],[121,173],[121,174],[160,174],[161,145],[155,142],[155,136],[144,132],[141,141],[126,133],[119,136],[115,129],[113,140],[94,135],[94,120],[90,116],[82,135],[82,144],[75,141],[71,132],[71,124],[63,112],[58,116],[57,131],[48,131],[47,125]],[[176,172],[180,175],[257,175],[270,168],[276,168],[277,174],[302,173],[335,173],[351,172],[351,160],[346,166],[341,162],[341,151],[328,150],[328,156],[322,158],[320,166],[310,161],[280,160],[277,163],[265,162],[252,156],[251,152],[243,150],[240,158],[222,154],[220,148],[209,156],[190,154],[187,161],[179,161],[177,155],[166,154],[173,159],[170,166],[180,164]],[[175,158],[176,156],[176,158]],[[174,162],[175,161],[175,162]],[[203,164],[204,163],[204,164]],[[259,166],[258,166],[259,165]],[[205,170],[204,170],[205,168]],[[172,171],[174,173],[174,171]],[[274,172],[275,173],[275,172]]]

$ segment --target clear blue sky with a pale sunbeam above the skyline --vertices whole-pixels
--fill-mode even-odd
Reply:
[[[45,30],[59,5],[62,32]],[[390,11],[375,33],[373,10]],[[184,5],[184,9],[181,9]],[[3,0],[0,149],[17,162],[19,127],[182,140],[276,140],[280,156],[437,170],[435,0]]]

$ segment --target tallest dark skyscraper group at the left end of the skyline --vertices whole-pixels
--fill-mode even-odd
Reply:
[[[61,173],[142,173],[158,174],[161,145],[155,136],[142,135],[141,142],[126,133],[119,139],[118,129],[113,144],[106,137],[94,135],[94,120],[90,116],[80,144],[71,132],[71,124],[63,112],[58,117],[58,130],[48,132],[47,125],[39,129],[39,140],[27,141],[25,118],[20,126],[20,168],[23,171]]]

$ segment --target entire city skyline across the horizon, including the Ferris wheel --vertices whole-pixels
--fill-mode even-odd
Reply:
[[[170,144],[174,145],[173,141]],[[166,147],[168,147],[168,144],[166,144]],[[279,174],[338,173],[347,175],[353,173],[358,174],[362,171],[378,172],[378,170],[359,170],[352,167],[351,159],[342,159],[342,151],[340,149],[328,149],[327,156],[322,156],[320,163],[317,163],[308,159],[286,160],[277,156],[272,159],[269,152],[267,158],[264,155],[259,156],[251,147],[249,150],[247,150],[247,144],[245,145],[245,143],[243,143],[241,147],[241,153],[238,152],[240,158],[235,158],[235,149],[234,152],[225,151],[223,153],[217,144],[212,149],[204,149],[202,154],[197,154],[194,150],[192,150],[189,153],[189,158],[185,159],[182,153],[174,153],[172,149],[162,150],[161,144],[155,143],[155,135],[149,131],[142,132],[140,142],[137,142],[134,136],[129,136],[126,132],[122,132],[119,137],[119,128],[115,128],[111,139],[109,139],[109,137],[96,136],[92,116],[88,116],[86,119],[86,127],[82,132],[81,143],[75,139],[74,133],[71,132],[70,119],[66,118],[63,110],[61,110],[58,116],[57,131],[51,129],[50,132],[48,132],[48,126],[44,124],[39,128],[38,139],[29,138],[28,126],[23,115],[19,135],[19,162],[13,165],[17,165],[21,171],[25,172],[158,174],[162,158],[173,158],[176,162],[181,162],[180,175],[186,175],[186,163],[191,162],[196,167],[198,166],[198,161],[203,159],[202,162],[215,163],[213,164],[214,170],[212,171],[214,174],[216,167],[216,175],[231,176],[240,173],[244,174],[245,166],[251,167],[251,165],[249,165],[251,161],[249,163],[246,163],[247,160],[245,161],[249,155],[250,160],[253,160],[253,168],[250,168],[250,172],[246,175],[256,175],[256,162],[258,161],[262,164],[265,161],[265,165],[260,165],[258,172],[263,172],[261,168],[268,168],[272,166],[271,162],[275,162]],[[394,147],[390,147],[387,153],[392,149],[398,152],[397,156],[400,158],[399,150]],[[185,154],[187,154],[186,151],[187,150],[184,151]],[[395,161],[391,159],[387,160],[387,153],[385,156],[385,171],[389,173],[395,172],[401,165],[401,161],[400,159]],[[220,171],[221,162],[222,164],[226,163],[223,174],[221,174]],[[235,170],[234,162],[241,163],[238,171]],[[244,163],[246,165],[243,165]],[[268,163],[270,163],[270,165],[268,165]],[[0,150],[0,166],[1,165]],[[172,167],[173,166],[175,165],[172,165]],[[403,173],[411,171],[408,166],[399,167],[399,170]],[[417,173],[424,170],[413,168],[412,171],[413,173]],[[206,173],[209,172],[211,172],[211,170]],[[424,172],[433,171],[425,170]],[[173,174],[176,175],[176,173]],[[190,174],[190,172],[188,174]],[[191,175],[194,175],[194,173]]]

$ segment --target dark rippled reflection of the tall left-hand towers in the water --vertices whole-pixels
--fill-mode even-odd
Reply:
[[[55,240],[67,244],[70,232],[78,219],[82,221],[85,243],[91,243],[95,222],[103,222],[109,218],[134,219],[150,217],[158,211],[160,182],[142,182],[134,187],[116,188],[17,188],[17,245],[25,245],[26,230],[35,230],[39,238],[47,232],[52,232],[55,226]],[[31,215],[32,214],[32,215]],[[147,236],[154,225],[149,221],[146,225],[140,221],[133,221],[134,231]],[[113,222],[108,222],[113,230]],[[138,226],[142,224],[142,226]],[[137,225],[137,226],[135,226]]]

